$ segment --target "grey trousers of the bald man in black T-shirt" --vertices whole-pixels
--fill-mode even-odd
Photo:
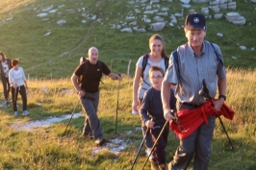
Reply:
[[[80,102],[86,112],[83,135],[93,134],[95,139],[102,139],[102,129],[97,116],[99,91],[94,93],[86,92],[86,95],[80,98]]]

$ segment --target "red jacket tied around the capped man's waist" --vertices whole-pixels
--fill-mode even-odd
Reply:
[[[181,128],[179,128],[178,125],[172,120],[170,121],[169,127],[172,131],[174,131],[175,134],[178,134],[179,139],[184,139],[192,134],[203,122],[208,124],[208,116],[215,115],[218,117],[218,114],[232,120],[235,112],[225,104],[223,104],[221,109],[217,111],[212,106],[212,102],[208,101],[199,108],[184,109],[178,112],[179,125],[181,125],[183,128],[182,131],[184,132],[181,132]]]

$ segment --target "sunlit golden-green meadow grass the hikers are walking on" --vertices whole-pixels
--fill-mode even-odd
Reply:
[[[226,104],[234,109],[236,114],[232,121],[224,118],[222,121],[235,145],[235,150],[230,150],[226,135],[217,119],[209,170],[255,170],[255,76],[255,70],[227,70],[228,98]],[[70,114],[78,100],[74,92],[64,92],[71,88],[70,81],[67,79],[52,82],[30,81],[28,109],[31,114],[29,116],[14,117],[13,109],[0,109],[0,169],[130,169],[142,140],[141,131],[136,131],[136,127],[141,126],[140,117],[131,114],[132,80],[124,78],[121,82],[117,134],[115,134],[115,107],[118,84],[109,79],[103,79],[103,81],[104,85],[100,85],[98,115],[106,138],[123,139],[128,143],[119,156],[109,151],[96,156],[92,154],[94,141],[80,136],[84,116],[72,119],[62,142],[60,140],[68,120],[32,132],[14,131],[11,125],[16,121],[24,123],[46,116]],[[47,92],[42,90],[45,86],[49,89]],[[2,91],[1,88],[0,90]],[[38,103],[41,106],[38,106]],[[19,97],[18,111],[21,109],[20,104]],[[75,112],[80,110],[79,106]],[[166,148],[167,161],[171,160],[178,143],[178,139],[170,133]],[[141,169],[144,160],[145,155],[142,149],[135,169]],[[145,170],[149,167],[150,163],[147,163]],[[189,170],[192,170],[192,166]]]

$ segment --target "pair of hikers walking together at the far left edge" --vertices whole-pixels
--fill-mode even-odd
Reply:
[[[27,109],[26,89],[28,89],[28,85],[23,68],[19,66],[17,59],[11,61],[3,52],[0,52],[0,62],[1,82],[5,97],[3,105],[9,105],[12,102],[13,114],[18,116],[16,101],[19,93],[22,99],[22,115],[28,115],[30,113]],[[10,91],[12,100],[9,98]]]

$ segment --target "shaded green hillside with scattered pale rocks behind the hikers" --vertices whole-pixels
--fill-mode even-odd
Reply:
[[[236,2],[236,12],[246,18],[246,24],[234,25],[226,21],[224,16],[218,20],[208,19],[206,39],[218,43],[227,66],[254,68],[256,57],[251,48],[255,48],[255,3]],[[149,1],[144,5],[150,5]],[[151,6],[152,10],[159,11],[168,8],[168,16],[165,17],[167,22],[170,21],[170,14],[184,13],[183,17],[177,17],[177,24],[170,27],[166,23],[165,29],[159,32],[165,38],[168,54],[186,42],[182,25],[189,10],[201,12],[202,7],[209,7],[209,3],[191,5],[189,9],[182,9],[180,1],[173,0],[161,1],[159,7],[154,4]],[[140,2],[125,0],[5,0],[0,4],[0,51],[11,59],[20,59],[26,74],[42,79],[69,77],[79,58],[87,55],[90,46],[96,46],[100,52],[100,60],[108,64],[114,60],[115,72],[125,73],[128,61],[132,60],[133,74],[138,58],[149,51],[148,38],[155,32],[121,33],[111,27],[113,24],[123,23],[128,27],[130,22],[136,20],[139,27],[148,30],[149,25],[141,21],[143,11],[136,13],[135,7],[145,8]],[[57,11],[53,12],[54,10]],[[233,11],[220,12],[225,14]],[[38,17],[39,13],[48,15]],[[137,18],[127,20],[126,16],[129,14],[136,15]],[[210,11],[210,14],[215,13]],[[93,20],[94,15],[96,19]],[[153,16],[148,14],[152,20]],[[57,21],[63,19],[66,23],[58,25]],[[86,23],[82,23],[83,20]],[[49,32],[49,36],[44,36]],[[217,36],[218,33],[223,36]],[[247,49],[243,51],[239,45],[244,45]],[[237,60],[233,60],[232,56]]]

